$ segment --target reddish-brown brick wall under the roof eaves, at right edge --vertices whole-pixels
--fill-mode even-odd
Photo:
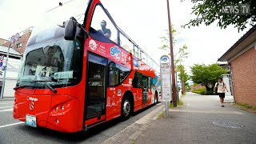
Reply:
[[[235,58],[231,66],[235,101],[256,106],[256,48],[252,47]]]

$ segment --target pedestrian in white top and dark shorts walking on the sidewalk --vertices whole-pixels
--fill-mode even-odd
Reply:
[[[218,82],[215,83],[215,86],[214,86],[214,93],[218,94],[219,96],[219,100],[222,104],[222,107],[224,107],[224,98],[225,98],[225,90],[226,92],[228,92],[228,90],[226,89],[226,85],[224,82],[222,82],[222,78],[218,78]]]

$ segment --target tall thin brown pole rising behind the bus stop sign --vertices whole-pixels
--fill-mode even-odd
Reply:
[[[167,13],[168,13],[168,23],[169,23],[169,38],[170,38],[170,62],[171,62],[171,80],[172,80],[172,96],[173,96],[173,104],[174,107],[177,107],[177,90],[176,90],[176,83],[175,83],[175,69],[174,69],[174,47],[173,47],[173,37],[171,34],[171,23],[170,23],[170,7],[169,7],[169,0],[167,1]]]

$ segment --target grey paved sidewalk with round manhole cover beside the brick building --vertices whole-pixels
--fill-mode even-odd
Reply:
[[[184,106],[169,110],[170,118],[151,123],[134,143],[256,143],[256,115],[230,104],[221,107],[218,96],[188,93],[182,102]]]

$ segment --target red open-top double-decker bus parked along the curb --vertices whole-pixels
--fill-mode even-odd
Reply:
[[[73,133],[160,99],[158,64],[99,0],[60,3],[39,25],[22,58],[14,118]]]

